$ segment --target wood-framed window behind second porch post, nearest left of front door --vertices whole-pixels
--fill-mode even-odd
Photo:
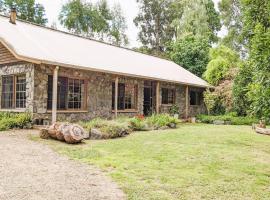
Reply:
[[[134,84],[118,84],[118,110],[137,109],[138,86]],[[112,109],[115,103],[115,83],[112,83]]]

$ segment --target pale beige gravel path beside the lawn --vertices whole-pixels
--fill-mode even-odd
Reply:
[[[27,140],[27,132],[0,133],[1,200],[125,199],[101,171]]]

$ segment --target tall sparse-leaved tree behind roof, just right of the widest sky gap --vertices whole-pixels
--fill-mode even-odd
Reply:
[[[143,46],[159,54],[174,36],[172,1],[171,0],[137,0],[139,14],[134,19],[139,28],[139,40]]]

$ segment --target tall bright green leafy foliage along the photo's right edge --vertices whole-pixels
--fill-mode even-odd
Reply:
[[[265,29],[262,24],[258,24],[254,34],[249,59],[254,72],[248,97],[252,114],[270,120],[270,27]]]

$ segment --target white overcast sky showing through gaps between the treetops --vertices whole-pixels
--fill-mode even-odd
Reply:
[[[91,2],[96,2],[97,0],[87,0]],[[127,19],[127,35],[130,42],[130,47],[138,47],[140,43],[138,42],[138,29],[133,23],[133,19],[137,16],[139,8],[138,4],[136,3],[136,0],[107,0],[110,6],[112,6],[115,3],[120,3],[124,16]],[[214,0],[216,8],[217,3],[220,0]],[[41,3],[44,5],[46,9],[46,16],[49,20],[48,26],[51,26],[52,23],[57,24],[57,28],[61,29],[61,26],[58,21],[58,15],[61,11],[62,5],[67,2],[67,0],[36,0],[36,2]],[[221,32],[219,33],[219,36],[223,36],[226,34],[226,30],[223,28]]]

